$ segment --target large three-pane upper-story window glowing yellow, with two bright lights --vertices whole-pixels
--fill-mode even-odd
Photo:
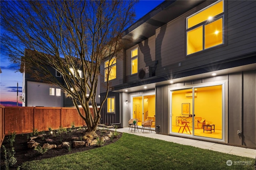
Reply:
[[[219,0],[186,18],[187,55],[224,43],[224,2]]]

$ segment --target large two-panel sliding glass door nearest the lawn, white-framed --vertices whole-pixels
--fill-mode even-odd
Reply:
[[[223,138],[223,84],[171,90],[170,133]]]

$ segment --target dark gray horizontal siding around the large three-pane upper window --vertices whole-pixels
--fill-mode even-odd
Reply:
[[[224,45],[186,56],[186,17],[202,9],[204,4],[156,30],[156,75],[243,57],[244,54],[255,52],[256,1],[224,2]]]

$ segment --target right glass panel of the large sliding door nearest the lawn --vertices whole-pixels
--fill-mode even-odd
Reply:
[[[194,90],[194,135],[222,139],[222,85]]]

